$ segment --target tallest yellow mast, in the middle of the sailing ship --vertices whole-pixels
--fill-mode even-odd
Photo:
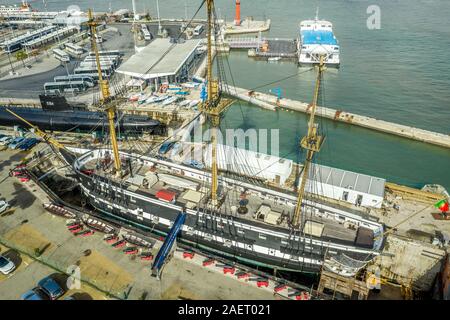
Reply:
[[[221,113],[232,104],[230,99],[221,99],[219,81],[213,78],[213,48],[212,38],[214,36],[214,0],[206,0],[207,3],[207,41],[208,41],[208,57],[206,81],[208,88],[208,97],[205,102],[200,105],[200,110],[207,115],[211,122],[211,202],[217,205],[218,190],[218,168],[217,168],[217,130],[220,125]]]

